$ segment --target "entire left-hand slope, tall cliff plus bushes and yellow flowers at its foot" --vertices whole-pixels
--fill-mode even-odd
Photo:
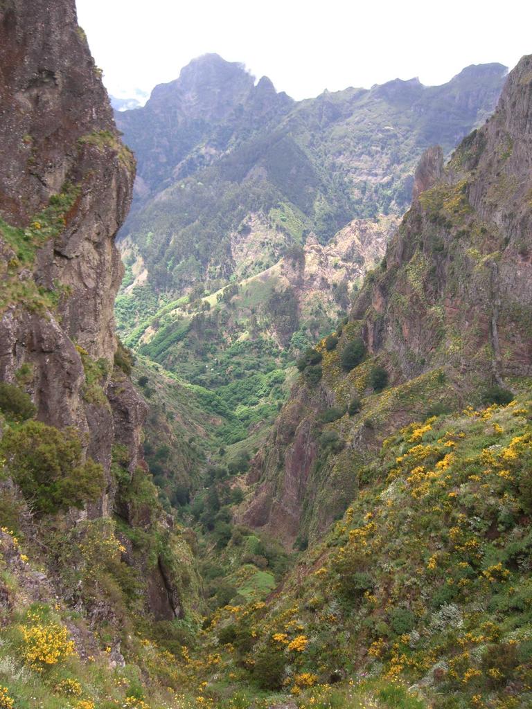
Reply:
[[[141,686],[140,637],[171,644],[166,625],[198,620],[192,551],[157,499],[140,450],[147,407],[114,334],[114,238],[135,162],[100,74],[74,0],[0,4],[0,705],[10,709],[123,703]],[[142,671],[153,686],[157,672]]]

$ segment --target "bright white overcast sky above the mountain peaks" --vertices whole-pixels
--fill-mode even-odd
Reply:
[[[109,93],[150,92],[217,52],[294,99],[419,77],[443,84],[470,64],[514,67],[532,53],[527,0],[77,0]]]

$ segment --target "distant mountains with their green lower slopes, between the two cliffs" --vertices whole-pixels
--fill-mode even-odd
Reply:
[[[345,318],[382,259],[421,152],[434,140],[449,152],[482,123],[505,73],[481,65],[443,86],[396,80],[295,103],[205,55],[116,114],[138,157],[118,333],[212,391],[206,415],[232,412],[222,447],[260,449],[294,358]]]

